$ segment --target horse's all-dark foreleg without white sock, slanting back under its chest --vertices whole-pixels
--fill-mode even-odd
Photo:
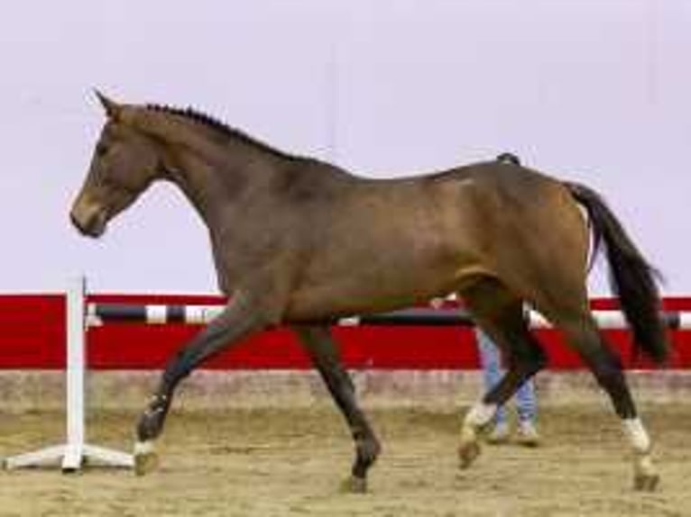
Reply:
[[[308,350],[336,405],[345,416],[355,440],[355,462],[351,476],[345,480],[343,488],[348,492],[365,492],[367,471],[381,450],[379,440],[357,405],[355,386],[341,365],[336,344],[328,327],[296,326],[294,330]]]

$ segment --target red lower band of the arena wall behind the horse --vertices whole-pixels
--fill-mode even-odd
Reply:
[[[216,304],[217,296],[92,295],[89,301],[128,304]],[[613,300],[595,300],[598,309],[615,308]],[[668,310],[691,310],[691,298],[665,300]],[[65,367],[65,301],[60,295],[0,296],[0,368]],[[88,331],[88,364],[100,369],[152,369],[166,360],[198,328],[170,324],[112,324]],[[450,327],[339,327],[334,330],[345,364],[355,368],[474,369],[478,365],[473,332]],[[627,367],[650,367],[631,360],[626,331],[607,331]],[[557,331],[539,331],[549,367],[582,367]],[[691,368],[691,331],[672,332],[670,367]],[[208,361],[206,367],[308,368],[309,360],[292,333],[267,331]]]

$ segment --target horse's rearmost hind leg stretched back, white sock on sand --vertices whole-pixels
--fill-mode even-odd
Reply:
[[[565,332],[568,343],[576,349],[598,384],[612,399],[614,411],[622,419],[624,434],[630,440],[634,452],[634,487],[637,490],[655,490],[659,484],[659,475],[650,459],[650,437],[640,422],[620,358],[607,348],[587,309],[578,316],[557,316],[550,319]]]

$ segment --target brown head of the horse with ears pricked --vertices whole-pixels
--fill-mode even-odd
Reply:
[[[160,146],[136,129],[131,120],[134,108],[98,92],[97,96],[107,121],[70,212],[78,231],[89,237],[102,235],[108,221],[134,203],[162,170]]]

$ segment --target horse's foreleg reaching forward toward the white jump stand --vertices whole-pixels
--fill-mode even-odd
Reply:
[[[137,475],[149,472],[158,463],[154,443],[161,435],[175,388],[180,381],[205,359],[221,349],[231,347],[249,334],[262,330],[265,325],[266,318],[263,317],[263,313],[254,309],[243,296],[237,295],[223,313],[170,360],[151,402],[137,425],[137,442],[134,446],[134,467]]]

